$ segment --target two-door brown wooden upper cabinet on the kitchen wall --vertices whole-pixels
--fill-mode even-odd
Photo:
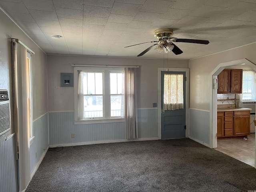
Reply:
[[[218,93],[242,93],[242,69],[224,69],[218,75]]]

